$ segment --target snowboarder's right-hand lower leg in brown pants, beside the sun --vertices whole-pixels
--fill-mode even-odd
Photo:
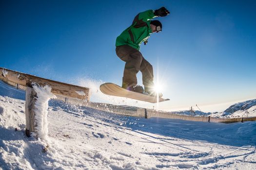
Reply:
[[[142,73],[142,82],[145,91],[152,91],[152,88],[154,88],[153,67],[144,57],[142,58],[140,71]]]

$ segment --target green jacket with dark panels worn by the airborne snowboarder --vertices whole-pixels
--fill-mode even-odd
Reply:
[[[133,24],[117,37],[116,46],[129,45],[139,50],[142,41],[146,42],[152,33],[150,20],[154,17],[157,16],[154,15],[153,10],[139,13],[134,18]]]

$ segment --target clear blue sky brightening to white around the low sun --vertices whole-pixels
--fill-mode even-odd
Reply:
[[[171,99],[159,109],[223,111],[256,98],[254,0],[1,0],[0,67],[121,85],[116,37],[139,12],[162,6],[171,12],[156,18],[162,32],[140,49]]]

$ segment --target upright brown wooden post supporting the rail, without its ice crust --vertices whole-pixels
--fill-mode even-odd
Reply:
[[[26,136],[30,136],[31,132],[35,132],[35,102],[37,101],[37,93],[34,88],[26,89]]]

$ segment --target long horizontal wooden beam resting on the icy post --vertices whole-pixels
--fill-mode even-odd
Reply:
[[[62,82],[57,82],[37,76],[13,71],[6,68],[0,68],[0,80],[7,82],[13,82],[15,84],[32,87],[32,83],[38,83],[39,85],[50,85],[52,87],[52,93],[62,95],[66,97],[72,97],[77,99],[90,100],[90,89],[87,87],[81,87],[78,85],[70,85]],[[82,94],[82,95],[81,95]]]

